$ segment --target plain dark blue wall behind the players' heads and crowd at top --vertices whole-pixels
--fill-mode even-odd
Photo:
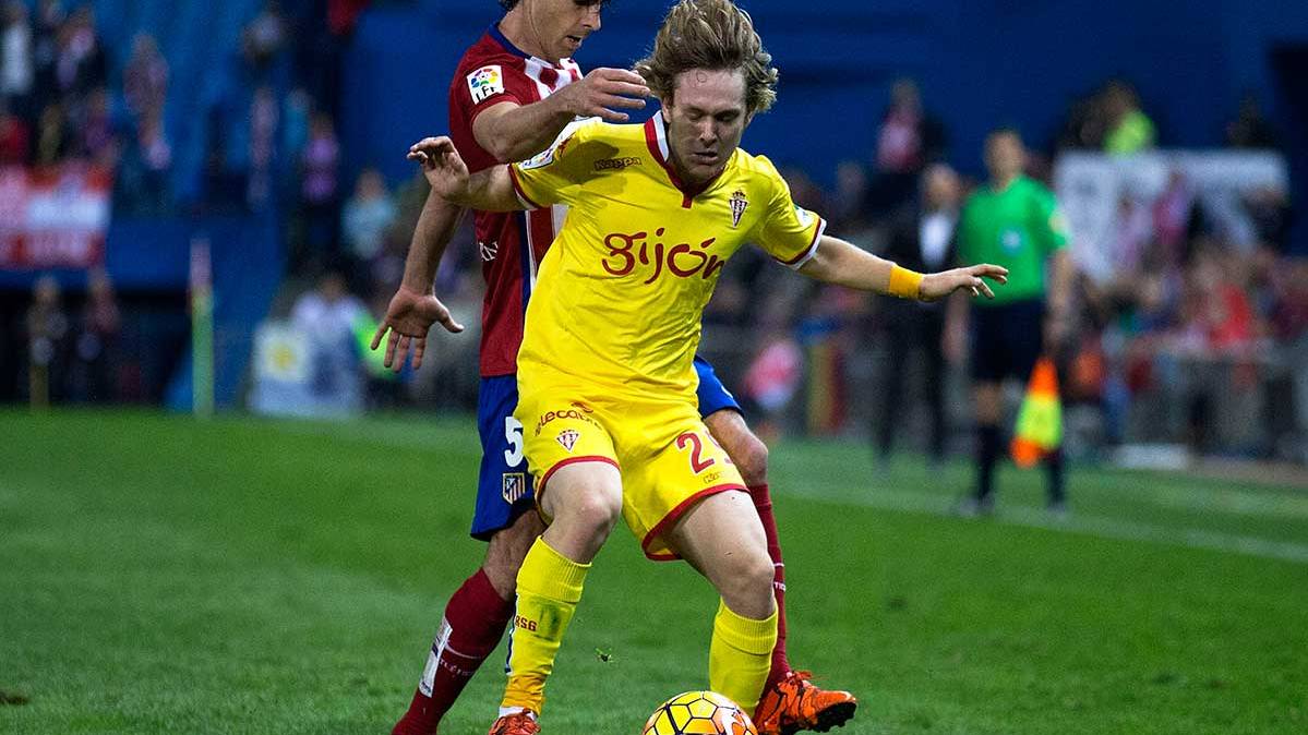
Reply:
[[[409,174],[395,154],[443,129],[449,73],[497,17],[490,0],[424,0],[374,8],[358,27],[345,77],[344,131],[353,163]],[[781,69],[772,112],[746,145],[829,177],[866,156],[895,78],[916,77],[950,129],[954,162],[981,171],[995,124],[1032,141],[1053,136],[1067,102],[1103,80],[1133,81],[1165,146],[1209,148],[1240,95],[1254,92],[1308,129],[1295,88],[1308,55],[1308,4],[1295,0],[752,0]],[[627,67],[649,47],[663,4],[617,0],[578,54],[583,68]],[[1298,141],[1300,145],[1304,141]],[[1304,246],[1300,246],[1304,247]]]

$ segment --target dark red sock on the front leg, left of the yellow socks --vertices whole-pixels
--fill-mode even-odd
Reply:
[[[392,735],[430,735],[472,680],[477,667],[500,645],[513,617],[513,600],[502,599],[485,570],[468,577],[445,607],[432,654],[413,701]]]

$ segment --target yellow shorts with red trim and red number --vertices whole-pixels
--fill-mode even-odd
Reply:
[[[578,462],[606,462],[623,476],[623,518],[657,561],[680,558],[663,532],[697,501],[744,490],[740,472],[713,441],[691,402],[598,396],[594,388],[523,391],[522,421],[536,502],[549,476]]]

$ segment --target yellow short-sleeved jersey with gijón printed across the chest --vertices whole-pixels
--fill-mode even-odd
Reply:
[[[583,123],[509,173],[526,207],[568,205],[527,305],[523,383],[693,403],[700,319],[726,260],[752,242],[798,268],[825,228],[768,158],[740,149],[705,187],[684,187],[662,114]]]

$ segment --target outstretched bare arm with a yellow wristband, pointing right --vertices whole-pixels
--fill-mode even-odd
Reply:
[[[985,279],[999,284],[1008,280],[1007,268],[988,264],[939,273],[914,273],[831,235],[819,239],[818,250],[799,272],[828,284],[921,301],[944,298],[956,290],[994,298]]]

